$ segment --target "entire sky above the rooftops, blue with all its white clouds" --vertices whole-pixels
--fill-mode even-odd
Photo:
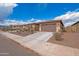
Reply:
[[[30,23],[45,20],[63,20],[67,26],[79,21],[78,3],[13,3],[0,4],[3,23]],[[75,20],[75,21],[74,21]],[[2,23],[2,22],[1,22]]]

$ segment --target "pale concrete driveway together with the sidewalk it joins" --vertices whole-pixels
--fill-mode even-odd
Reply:
[[[51,32],[38,32],[26,37],[20,37],[15,36],[16,39],[14,39],[14,36],[10,33],[2,33],[3,35],[7,36],[8,38],[11,38],[12,40],[17,41],[24,47],[28,47],[35,52],[39,53],[40,55],[79,55],[79,49],[72,48],[64,45],[58,45],[54,43],[48,43],[47,40],[52,36]]]

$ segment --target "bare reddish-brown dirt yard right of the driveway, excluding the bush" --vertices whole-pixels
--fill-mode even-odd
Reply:
[[[62,33],[61,38],[61,41],[57,41],[51,37],[48,42],[79,49],[79,33]]]

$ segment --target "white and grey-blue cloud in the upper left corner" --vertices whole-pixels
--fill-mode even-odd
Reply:
[[[0,3],[0,19],[4,19],[13,12],[13,8],[18,6],[15,3]]]

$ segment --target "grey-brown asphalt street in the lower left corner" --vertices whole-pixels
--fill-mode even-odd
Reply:
[[[0,34],[0,56],[37,56],[34,51],[24,48]]]

